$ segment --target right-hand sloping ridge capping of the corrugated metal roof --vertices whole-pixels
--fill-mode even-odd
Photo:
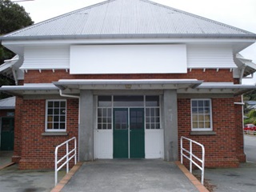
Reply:
[[[230,26],[230,25],[228,25],[226,23],[223,23],[223,22],[217,22],[217,21],[215,21],[213,19],[205,18],[205,17],[202,17],[202,16],[200,16],[198,14],[191,14],[191,13],[185,11],[185,10],[179,10],[179,9],[176,9],[174,7],[171,7],[171,6],[162,5],[162,4],[158,3],[158,2],[154,2],[154,0],[153,1],[150,1],[150,0],[139,0],[139,1],[149,2],[149,3],[154,4],[156,6],[162,6],[162,7],[165,7],[167,9],[175,10],[175,11],[178,11],[179,13],[186,14],[186,15],[192,16],[194,18],[199,18],[199,19],[202,19],[202,20],[204,20],[206,22],[213,22],[214,24],[217,24],[219,26],[225,26],[225,27],[229,27],[230,29],[233,29],[233,30],[238,30],[238,31],[240,31],[242,33],[254,34],[253,32],[250,32],[248,30],[242,30],[241,28],[238,28],[238,27],[235,27],[235,26]]]

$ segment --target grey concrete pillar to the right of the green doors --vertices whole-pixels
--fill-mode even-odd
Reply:
[[[177,91],[164,90],[164,158],[166,161],[178,160],[178,111]]]

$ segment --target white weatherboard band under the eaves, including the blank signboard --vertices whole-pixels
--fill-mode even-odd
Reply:
[[[234,69],[230,46],[90,45],[29,46],[22,70],[70,70],[70,74],[186,73],[187,69]]]

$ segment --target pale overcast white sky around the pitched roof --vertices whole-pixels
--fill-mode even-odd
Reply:
[[[18,0],[11,0],[18,1]],[[129,0],[126,0],[129,1]],[[184,10],[191,14],[197,14],[204,18],[210,18],[217,22],[223,22],[230,26],[248,30],[256,34],[256,1],[255,0],[151,0],[162,5]],[[66,14],[73,10],[94,5],[103,0],[34,0],[27,2],[17,2],[23,6],[32,20],[37,22],[54,18],[61,14]],[[241,54],[245,58],[250,58],[256,63],[256,43]],[[248,79],[246,84],[256,83],[256,74],[253,79]]]

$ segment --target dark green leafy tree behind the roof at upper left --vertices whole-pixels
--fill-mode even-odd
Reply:
[[[10,2],[10,0],[0,0],[0,35],[8,34],[33,23],[30,14],[26,13],[23,6]],[[0,46],[0,64],[14,55],[10,50]]]

